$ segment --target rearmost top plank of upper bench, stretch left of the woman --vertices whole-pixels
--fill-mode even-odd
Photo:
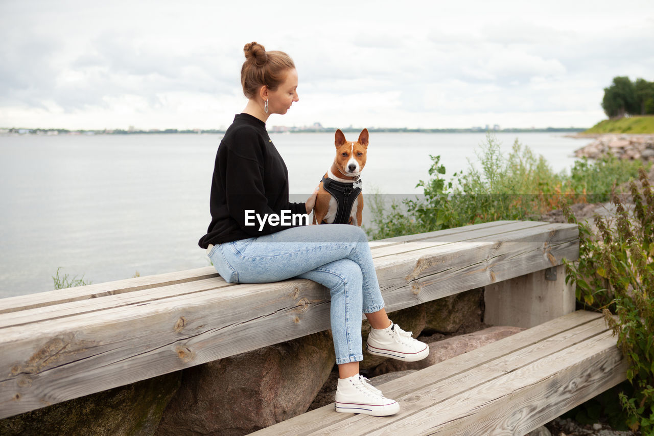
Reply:
[[[213,266],[0,299],[0,314],[217,277]]]

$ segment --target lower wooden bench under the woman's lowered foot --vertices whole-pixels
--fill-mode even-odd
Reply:
[[[601,314],[579,310],[377,386],[398,414],[341,414],[332,403],[251,434],[522,436],[626,373]]]

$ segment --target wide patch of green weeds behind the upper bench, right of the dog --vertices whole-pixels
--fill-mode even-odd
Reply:
[[[574,203],[607,201],[611,186],[638,175],[639,160],[603,156],[577,160],[567,172],[555,173],[543,156],[536,156],[517,140],[508,156],[488,134],[477,156],[481,169],[468,170],[443,179],[440,156],[431,156],[430,179],[419,181],[423,195],[389,205],[384,196],[368,195],[373,228],[371,239],[432,232],[443,228],[502,219],[539,219],[543,213]]]

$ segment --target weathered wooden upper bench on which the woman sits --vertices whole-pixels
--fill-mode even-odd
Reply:
[[[495,323],[574,310],[561,263],[578,257],[575,225],[497,221],[371,247],[388,312],[477,287]],[[507,296],[541,304],[505,310]],[[317,283],[228,284],[212,266],[3,299],[0,418],[329,328]]]

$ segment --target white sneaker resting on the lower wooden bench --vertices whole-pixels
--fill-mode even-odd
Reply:
[[[399,412],[398,402],[384,397],[380,390],[368,384],[369,381],[360,374],[339,378],[336,388],[336,411],[372,416],[387,416]]]

